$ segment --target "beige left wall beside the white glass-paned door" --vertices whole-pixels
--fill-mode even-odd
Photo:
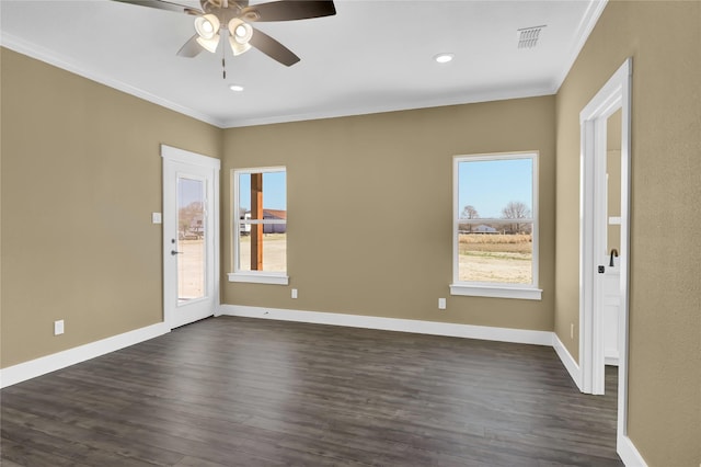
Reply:
[[[160,322],[160,144],[221,129],[8,49],[1,93],[0,365]]]

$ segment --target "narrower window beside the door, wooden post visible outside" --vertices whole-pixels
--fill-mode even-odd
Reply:
[[[287,285],[287,176],[284,167],[237,169],[230,282]]]

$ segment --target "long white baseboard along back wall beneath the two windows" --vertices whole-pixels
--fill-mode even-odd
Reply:
[[[528,329],[494,328],[487,326],[457,324],[451,322],[421,321],[415,319],[382,318],[377,316],[345,315],[321,311],[301,311],[279,308],[221,305],[217,314],[246,318],[276,319],[310,322],[314,324],[346,326],[349,328],[383,331],[413,332],[451,338],[481,339],[533,345],[552,345],[552,332]]]

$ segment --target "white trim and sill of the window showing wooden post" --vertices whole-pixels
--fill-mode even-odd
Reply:
[[[229,282],[238,282],[238,283],[251,283],[251,284],[272,284],[272,285],[289,285],[289,276],[287,272],[284,273],[274,273],[266,271],[240,271],[238,266],[237,259],[239,258],[239,236],[241,235],[241,225],[269,225],[269,224],[283,224],[287,225],[287,220],[277,220],[277,219],[241,219],[239,215],[239,174],[240,173],[267,173],[267,172],[285,172],[285,178],[287,178],[287,168],[285,166],[277,167],[256,167],[256,168],[244,168],[244,169],[232,169],[231,170],[231,186],[232,186],[232,202],[233,209],[233,223],[232,223],[232,248],[231,248],[231,265],[233,272],[228,273]]]

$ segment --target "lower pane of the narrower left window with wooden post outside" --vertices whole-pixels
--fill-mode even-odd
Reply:
[[[264,271],[285,272],[287,271],[287,234],[285,224],[265,224],[258,226],[248,225],[251,235],[239,236],[239,271]],[[251,267],[251,258],[256,257],[256,247],[251,241],[255,238],[255,230],[263,228],[263,269],[257,269],[257,264]]]

